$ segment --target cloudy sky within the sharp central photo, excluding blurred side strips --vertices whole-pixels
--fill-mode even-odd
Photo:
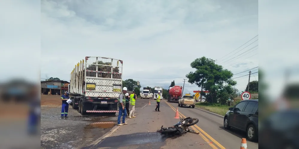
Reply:
[[[85,56],[123,60],[124,80],[139,80],[144,87],[167,88],[172,80],[183,86],[183,78],[193,71],[190,63],[201,56],[218,59],[233,73],[258,66],[257,0],[42,0],[41,12],[42,78],[69,80]],[[236,80],[244,90],[248,76]],[[184,92],[199,89],[185,86]]]

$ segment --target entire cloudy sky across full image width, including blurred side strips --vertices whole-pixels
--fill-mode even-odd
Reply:
[[[201,56],[218,59],[233,73],[258,66],[259,58],[274,95],[283,88],[286,68],[291,82],[299,80],[299,1],[80,2],[1,2],[0,57],[7,71],[0,80],[69,80],[73,66],[85,56],[124,60],[124,79],[143,86],[168,87],[172,80],[183,85],[183,77],[192,71],[190,62]],[[259,49],[245,52],[257,43]],[[255,79],[257,74],[251,77]],[[236,80],[243,90],[248,76]],[[185,91],[193,90],[198,88],[186,83]]]

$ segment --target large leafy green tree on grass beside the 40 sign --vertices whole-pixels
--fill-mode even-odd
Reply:
[[[188,82],[196,84],[201,91],[203,89],[210,91],[206,95],[208,102],[215,103],[219,99],[221,103],[225,103],[234,91],[233,86],[236,85],[236,81],[231,79],[233,73],[215,64],[215,60],[206,57],[195,59],[190,66],[196,70],[186,75]]]

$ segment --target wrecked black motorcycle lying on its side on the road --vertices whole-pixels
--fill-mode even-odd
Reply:
[[[199,120],[197,118],[187,117],[183,119],[180,117],[180,121],[175,125],[167,128],[163,128],[162,126],[161,129],[158,130],[158,132],[160,132],[161,134],[183,134],[186,132],[195,133],[194,131],[189,129],[189,126],[195,125],[196,123],[198,123],[198,121]]]

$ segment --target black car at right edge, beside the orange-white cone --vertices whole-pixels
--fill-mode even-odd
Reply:
[[[245,131],[248,140],[256,141],[259,131],[259,100],[243,100],[229,108],[224,116],[224,128]]]

